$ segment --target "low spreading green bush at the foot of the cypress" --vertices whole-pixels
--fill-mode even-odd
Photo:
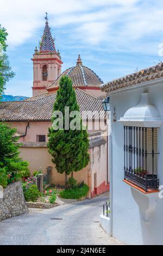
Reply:
[[[87,192],[89,192],[89,186],[87,184],[83,184],[81,188],[69,188],[61,191],[60,197],[65,199],[80,199],[82,197],[86,197]]]

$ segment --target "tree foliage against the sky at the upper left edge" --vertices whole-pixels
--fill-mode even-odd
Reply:
[[[8,55],[5,53],[8,47],[7,36],[6,29],[0,25],[0,95],[3,93],[6,83],[15,75],[11,70]]]

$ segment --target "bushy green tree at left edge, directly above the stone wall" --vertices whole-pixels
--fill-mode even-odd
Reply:
[[[21,173],[28,171],[28,163],[19,156],[20,146],[16,143],[18,138],[15,133],[16,129],[0,123],[0,176],[7,175],[7,183],[19,180]]]

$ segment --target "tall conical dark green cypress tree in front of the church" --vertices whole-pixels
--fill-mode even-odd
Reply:
[[[72,88],[72,81],[67,76],[62,76],[60,87],[57,92],[57,98],[54,103],[53,111],[61,111],[63,114],[63,127],[55,129],[59,126],[59,118],[52,117],[52,128],[49,128],[49,153],[52,154],[52,162],[55,164],[60,174],[65,173],[65,182],[67,175],[73,174],[73,171],[82,170],[89,163],[89,139],[86,129],[82,129],[82,119],[76,115],[74,124],[79,124],[79,129],[67,129],[65,107],[69,107],[68,114],[72,111],[78,111],[79,106],[76,99],[76,92]],[[70,117],[68,126],[71,126],[74,117]]]

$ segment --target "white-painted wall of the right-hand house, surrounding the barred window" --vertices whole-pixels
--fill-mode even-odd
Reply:
[[[130,109],[139,104],[141,94],[149,99],[163,120],[163,81],[155,79],[139,86],[115,91],[110,96],[110,235],[128,245],[163,245],[163,199],[159,193],[143,194],[123,182],[124,135],[118,122]],[[115,109],[115,111],[114,111]],[[113,114],[116,112],[116,122]],[[163,184],[163,123],[158,130],[158,178]]]

